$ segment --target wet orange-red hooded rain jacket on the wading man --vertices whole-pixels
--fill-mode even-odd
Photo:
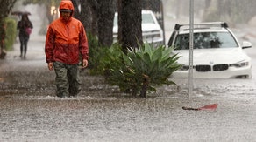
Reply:
[[[82,23],[75,19],[74,6],[69,0],[60,2],[60,9],[72,10],[71,17],[65,21],[60,18],[49,25],[46,34],[46,62],[61,62],[64,64],[78,64],[79,55],[82,59],[89,59],[89,46],[86,32]]]

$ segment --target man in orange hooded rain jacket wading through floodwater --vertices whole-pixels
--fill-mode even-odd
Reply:
[[[60,98],[76,96],[81,91],[79,59],[82,68],[88,66],[89,46],[82,23],[75,19],[70,0],[60,2],[60,18],[49,25],[46,34],[46,63],[55,71],[56,95]]]

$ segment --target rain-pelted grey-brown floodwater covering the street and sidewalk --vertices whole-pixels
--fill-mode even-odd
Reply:
[[[252,57],[252,79],[195,79],[190,99],[188,79],[174,79],[178,86],[161,86],[146,99],[130,98],[87,71],[81,72],[77,98],[56,98],[44,37],[36,33],[26,59],[18,57],[16,43],[0,60],[1,142],[256,141],[255,39],[245,50]],[[214,103],[215,111],[182,110]]]

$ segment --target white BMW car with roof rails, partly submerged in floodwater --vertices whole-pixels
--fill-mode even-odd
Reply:
[[[186,28],[187,27],[187,28]],[[168,41],[174,53],[181,56],[180,70],[173,78],[188,78],[189,25],[176,24]],[[202,23],[194,25],[193,78],[252,78],[251,58],[244,49],[252,44],[238,43],[226,23]]]

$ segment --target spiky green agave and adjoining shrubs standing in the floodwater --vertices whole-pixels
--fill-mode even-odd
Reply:
[[[179,57],[172,55],[172,51],[173,48],[164,45],[155,48],[143,44],[125,55],[120,46],[114,45],[104,60],[106,81],[132,96],[140,91],[140,97],[146,98],[146,91],[156,91],[155,86],[174,84],[168,77],[180,64],[176,62]]]

